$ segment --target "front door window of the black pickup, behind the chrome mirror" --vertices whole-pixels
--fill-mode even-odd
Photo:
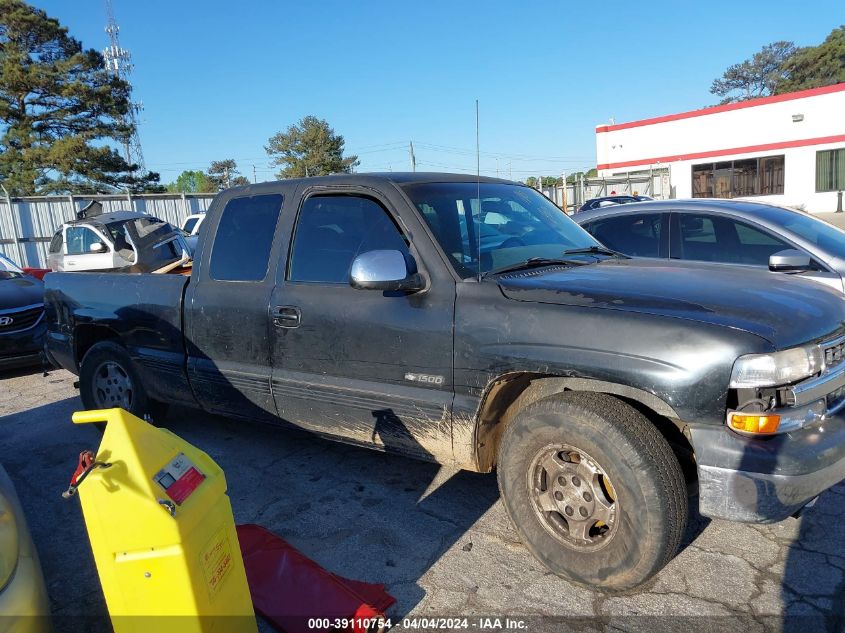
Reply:
[[[348,284],[352,260],[375,250],[408,253],[407,241],[378,202],[311,196],[299,212],[288,279]]]

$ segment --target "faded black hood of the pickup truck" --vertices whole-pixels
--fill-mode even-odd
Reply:
[[[795,275],[701,263],[605,260],[501,275],[506,297],[738,328],[782,349],[845,326],[845,295]]]

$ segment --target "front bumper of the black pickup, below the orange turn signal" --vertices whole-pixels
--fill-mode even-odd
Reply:
[[[690,434],[704,516],[775,523],[845,480],[845,415],[771,437],[711,425]]]

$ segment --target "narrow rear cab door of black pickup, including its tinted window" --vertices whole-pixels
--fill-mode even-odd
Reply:
[[[188,376],[207,411],[276,416],[268,315],[284,200],[283,193],[224,199],[217,225],[207,227],[214,241],[204,245],[185,301]]]

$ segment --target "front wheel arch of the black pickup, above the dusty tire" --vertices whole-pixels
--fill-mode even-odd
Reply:
[[[517,412],[532,402],[565,391],[615,396],[645,415],[671,444],[689,445],[680,416],[671,405],[653,393],[593,378],[515,372],[499,376],[485,389],[474,430],[473,448],[478,471],[490,472],[496,467],[502,433]],[[691,446],[688,448],[691,452]]]

